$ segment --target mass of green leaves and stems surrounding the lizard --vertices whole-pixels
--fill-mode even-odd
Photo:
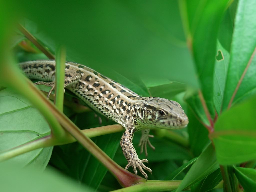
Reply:
[[[112,191],[121,186],[127,187],[123,191],[176,192],[188,187],[201,192],[255,188],[255,1],[4,4],[0,7],[4,191],[14,190],[10,180],[20,191],[30,184],[44,191],[50,190],[46,186],[59,191]],[[43,50],[27,39],[33,36]],[[115,123],[104,116],[95,117],[69,91],[64,108],[59,93],[54,106],[17,67],[18,62],[54,55],[59,61],[58,80],[66,57],[142,96],[164,97],[183,106],[189,118],[186,129],[152,131],[156,151],[148,148],[153,174],[147,182],[117,165],[127,163],[119,146],[120,126],[112,126]],[[139,135],[134,138],[137,151]],[[79,143],[72,143],[75,140]],[[135,183],[140,184],[131,186]]]

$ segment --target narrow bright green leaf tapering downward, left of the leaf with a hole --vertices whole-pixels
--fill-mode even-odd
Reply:
[[[216,39],[222,14],[228,0],[184,1],[183,17],[187,17],[189,38],[193,52],[197,76],[208,110],[214,115],[213,76],[216,53]],[[187,12],[187,13],[186,13]],[[210,25],[209,25],[210,24]]]

